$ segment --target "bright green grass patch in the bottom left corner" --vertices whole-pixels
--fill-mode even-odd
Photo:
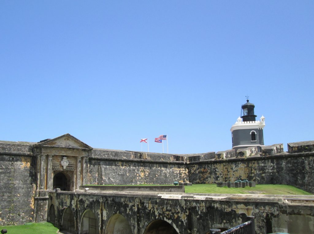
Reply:
[[[18,226],[0,226],[0,230],[7,229],[8,234],[52,234],[59,230],[51,223],[27,223]]]

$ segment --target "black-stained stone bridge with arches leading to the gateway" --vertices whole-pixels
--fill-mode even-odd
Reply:
[[[295,200],[295,196],[282,199],[276,195],[51,191],[49,207],[53,207],[54,213],[50,214],[53,213],[51,216],[60,227],[64,226],[64,209],[71,210],[73,233],[82,231],[87,210],[95,214],[99,233],[119,233],[109,231],[111,226],[118,226],[117,221],[111,222],[117,214],[126,220],[126,228],[130,229],[121,233],[147,234],[149,224],[165,220],[177,233],[205,234],[211,228],[237,226],[249,215],[256,217],[257,233],[266,233],[265,217],[271,218],[273,231],[313,233],[314,205],[302,204],[312,196],[301,197]]]

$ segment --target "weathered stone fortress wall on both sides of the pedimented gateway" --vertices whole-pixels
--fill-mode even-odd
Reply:
[[[41,180],[31,142],[0,141],[0,225],[32,221],[36,204],[47,196],[36,194]],[[238,178],[257,183],[289,184],[314,193],[314,142],[289,143],[194,155],[171,155],[123,150],[92,149],[87,160],[88,184],[172,184],[174,181],[215,183]],[[45,171],[44,171],[45,172]],[[44,193],[42,193],[44,194]],[[37,205],[40,207],[39,205]]]

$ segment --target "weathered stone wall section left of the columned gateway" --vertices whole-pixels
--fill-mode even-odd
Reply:
[[[31,143],[0,142],[0,147],[0,225],[30,222],[36,190]]]

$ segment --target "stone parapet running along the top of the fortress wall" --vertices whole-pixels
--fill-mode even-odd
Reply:
[[[260,121],[255,121],[260,122]],[[34,142],[12,142],[12,141],[0,141],[0,155],[35,155]],[[288,143],[289,154],[302,153],[302,152],[313,152],[314,141],[302,141]],[[24,154],[23,154],[24,153]],[[260,152],[258,152],[256,146],[247,147],[245,149],[238,150],[225,150],[218,152],[207,152],[199,154],[164,154],[154,152],[141,152],[141,151],[130,151],[130,150],[111,150],[111,149],[98,149],[92,148],[92,158],[106,158],[106,159],[143,159],[148,161],[164,161],[164,162],[175,162],[183,161],[186,163],[192,163],[197,161],[205,160],[222,160],[227,158],[241,158],[251,156],[266,156],[276,155],[284,153],[283,144],[263,145],[261,146]]]

